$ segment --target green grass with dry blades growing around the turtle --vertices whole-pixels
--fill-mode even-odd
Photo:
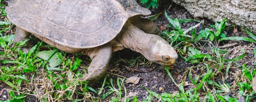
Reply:
[[[5,5],[1,4],[0,6],[2,10],[0,82],[9,87],[10,96],[4,102],[24,102],[28,95],[36,96],[44,102],[55,100],[77,102],[85,99],[97,102],[107,98],[111,102],[140,102],[140,97],[127,97],[129,90],[126,89],[125,79],[122,77],[117,77],[117,80],[114,81],[106,75],[103,83],[99,85],[100,87],[95,89],[87,86],[87,82],[81,81],[80,78],[86,73],[88,63],[91,61],[89,57],[84,58],[81,54],[68,54],[42,41],[32,47],[28,53],[22,52],[19,47],[24,46],[28,40],[12,46],[14,35],[11,31],[14,30],[15,25],[12,25],[6,18]],[[250,49],[246,45],[237,47],[236,54],[239,55],[234,57],[235,52],[231,52],[232,49],[218,48],[220,44],[224,43],[224,40],[243,40],[255,43],[254,34],[243,29],[252,39],[226,37],[223,31],[232,27],[225,26],[226,19],[196,32],[196,27],[204,25],[202,21],[172,19],[167,12],[165,15],[170,25],[167,26],[168,30],[162,32],[161,36],[178,51],[179,57],[187,63],[194,63],[194,66],[185,68],[185,78],[182,78],[180,82],[175,82],[177,80],[174,80],[167,66],[164,66],[170,79],[176,85],[173,87],[178,87],[178,92],[158,94],[143,87],[149,95],[142,102],[150,102],[153,99],[162,102],[235,102],[239,98],[244,98],[245,102],[255,100],[255,93],[252,90],[255,68],[248,65],[249,63],[243,62]],[[183,31],[181,24],[186,22],[197,22],[198,25]],[[200,45],[202,43],[209,46],[206,48],[206,46]],[[253,51],[255,54],[256,50]],[[143,56],[131,60],[114,59],[113,69],[120,63],[126,63],[129,67],[136,65],[152,67],[152,62],[148,62]],[[185,90],[186,86],[184,85],[186,78],[189,79],[188,83],[194,86],[188,90]],[[231,79],[232,83],[227,82]],[[27,90],[23,90],[24,88]],[[17,92],[18,95],[15,95],[14,92]],[[79,99],[78,96],[80,96]]]

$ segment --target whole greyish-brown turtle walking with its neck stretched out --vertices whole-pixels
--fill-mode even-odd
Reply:
[[[103,77],[111,54],[124,48],[160,65],[178,58],[156,24],[142,18],[151,11],[135,0],[14,0],[5,10],[16,25],[14,42],[33,35],[61,51],[88,55],[92,62],[83,81]],[[29,49],[33,41],[26,45]]]

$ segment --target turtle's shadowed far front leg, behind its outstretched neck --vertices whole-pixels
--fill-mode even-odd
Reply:
[[[149,19],[140,18],[140,16],[134,16],[132,18],[129,18],[129,20],[132,23],[132,25],[140,28],[140,30],[142,30],[145,33],[155,34],[155,35],[161,34],[156,24]]]

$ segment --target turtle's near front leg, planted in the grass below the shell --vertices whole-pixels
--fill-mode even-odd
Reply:
[[[91,57],[92,62],[88,67],[87,74],[84,74],[82,80],[94,82],[105,75],[108,70],[108,63],[112,54],[112,45],[108,42],[105,45],[84,49],[81,52]]]

